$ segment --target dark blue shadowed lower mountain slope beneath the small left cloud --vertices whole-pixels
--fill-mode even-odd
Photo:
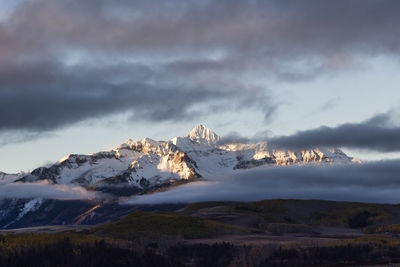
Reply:
[[[112,221],[131,212],[169,211],[184,204],[126,206],[117,201],[53,199],[0,199],[0,229],[43,225],[95,225]]]

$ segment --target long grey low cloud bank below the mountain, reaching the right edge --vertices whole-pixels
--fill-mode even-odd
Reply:
[[[400,160],[339,166],[259,167],[121,204],[257,201],[273,198],[400,203]]]

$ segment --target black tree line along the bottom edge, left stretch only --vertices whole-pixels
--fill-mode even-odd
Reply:
[[[0,248],[2,267],[113,267],[113,266],[226,266],[233,246],[227,244],[170,247],[164,255],[149,248],[139,253],[105,241],[73,243],[64,238],[53,244],[5,251]]]

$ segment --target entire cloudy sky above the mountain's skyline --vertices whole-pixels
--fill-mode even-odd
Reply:
[[[0,171],[203,123],[400,150],[400,1],[0,0]]]

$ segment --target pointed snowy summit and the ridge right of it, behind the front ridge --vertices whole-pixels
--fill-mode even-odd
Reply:
[[[265,164],[275,166],[352,161],[352,158],[337,148],[272,150],[268,148],[267,143],[218,145],[222,140],[222,137],[199,125],[188,135],[175,137],[171,142],[197,163],[198,173],[204,177]]]

